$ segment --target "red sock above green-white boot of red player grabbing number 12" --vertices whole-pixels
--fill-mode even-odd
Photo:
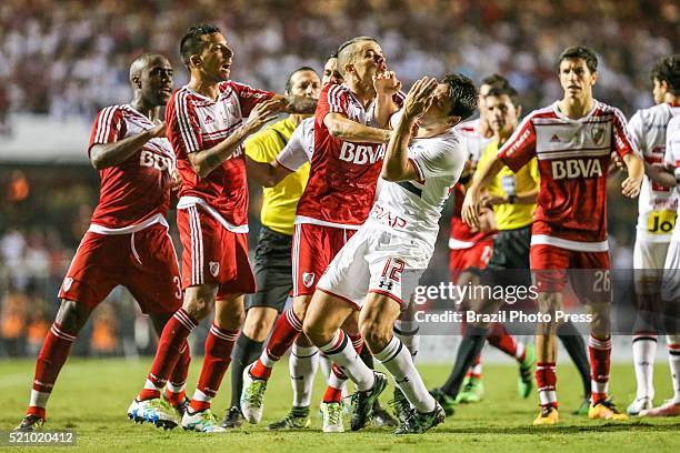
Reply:
[[[250,370],[250,374],[256,379],[268,380],[274,363],[292,346],[300,332],[302,332],[302,321],[292,309],[286,310],[277,320],[267,348]]]

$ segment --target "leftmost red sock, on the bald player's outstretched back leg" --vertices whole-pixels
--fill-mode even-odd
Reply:
[[[46,419],[47,400],[52,392],[61,368],[69,356],[77,332],[64,331],[58,322],[54,322],[50,328],[36,361],[33,391],[26,412],[27,415],[33,414]]]

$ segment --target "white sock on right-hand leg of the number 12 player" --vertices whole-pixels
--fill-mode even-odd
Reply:
[[[374,356],[392,374],[394,382],[409,400],[411,406],[419,412],[432,412],[434,410],[437,402],[428,392],[420,374],[418,374],[411,354],[403,348],[397,336],[392,336],[388,345]]]

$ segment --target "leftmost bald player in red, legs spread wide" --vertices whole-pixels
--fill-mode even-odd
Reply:
[[[170,62],[158,53],[140,56],[130,66],[130,85],[132,100],[104,108],[92,127],[88,155],[101,178],[99,203],[59,290],[61,306],[38,355],[31,400],[18,430],[44,423],[48,399],[71,344],[113,288],[120,284],[132,293],[159,334],[181,306],[179,268],[166,221],[174,154],[159,118],[172,92]],[[189,361],[183,341],[168,370],[166,392],[178,409],[184,402]],[[161,400],[154,404],[173,411]],[[141,413],[131,416],[142,420]]]

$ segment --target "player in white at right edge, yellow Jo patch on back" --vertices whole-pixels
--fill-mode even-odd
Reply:
[[[631,139],[647,165],[662,165],[667,124],[680,114],[680,57],[667,57],[651,71],[654,107],[636,112],[628,123]],[[674,168],[674,161],[671,161]],[[657,352],[656,315],[661,306],[661,276],[668,246],[676,226],[678,191],[670,174],[670,185],[642,181],[638,204],[638,226],[633,249],[638,314],[633,326],[633,364],[637,393],[628,406],[629,415],[653,407],[653,365]]]

